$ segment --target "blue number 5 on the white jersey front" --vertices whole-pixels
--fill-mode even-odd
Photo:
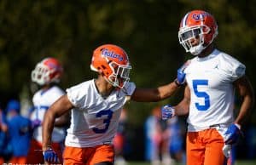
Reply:
[[[193,89],[195,95],[199,98],[204,98],[204,105],[200,105],[199,103],[195,103],[195,107],[198,111],[207,111],[210,107],[210,96],[206,92],[198,91],[198,86],[200,85],[208,85],[208,80],[193,80]]]

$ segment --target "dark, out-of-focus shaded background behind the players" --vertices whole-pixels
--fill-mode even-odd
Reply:
[[[31,71],[39,60],[58,58],[64,75],[61,88],[91,79],[93,49],[114,43],[129,54],[131,81],[137,87],[156,87],[171,82],[177,68],[192,55],[185,54],[177,40],[179,22],[189,10],[203,9],[218,21],[216,44],[247,65],[247,77],[255,90],[256,1],[253,0],[22,0],[0,1],[0,102],[11,98],[21,103],[32,99],[36,87]],[[156,105],[180,100],[176,94],[159,103],[127,105],[131,144],[143,143],[143,122]],[[23,101],[23,102],[22,102]],[[239,105],[239,98],[236,101]],[[28,105],[23,104],[23,109]],[[256,125],[256,112],[246,128]],[[141,138],[140,138],[141,137]],[[256,141],[254,140],[254,143]],[[131,158],[142,157],[142,147]],[[241,147],[241,158],[247,158]]]

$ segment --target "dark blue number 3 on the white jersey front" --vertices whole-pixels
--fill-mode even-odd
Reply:
[[[113,116],[113,111],[104,110],[104,111],[99,111],[98,113],[96,113],[96,117],[102,117],[102,116],[107,116],[107,118],[105,118],[103,120],[103,123],[105,124],[105,128],[92,128],[92,130],[96,134],[103,134],[108,130],[109,123],[111,122],[111,118]]]

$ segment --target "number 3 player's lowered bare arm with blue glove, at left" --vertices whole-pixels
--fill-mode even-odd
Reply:
[[[44,115],[42,149],[45,162],[52,160],[53,162],[51,163],[56,163],[55,160],[58,160],[55,152],[51,149],[51,134],[55,125],[55,118],[61,117],[61,115],[67,113],[72,108],[73,105],[67,99],[67,94],[65,94],[59,100],[56,100]]]

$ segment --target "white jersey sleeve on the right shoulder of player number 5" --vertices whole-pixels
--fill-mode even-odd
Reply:
[[[246,66],[241,64],[240,61],[230,55],[224,56],[222,60],[224,69],[227,71],[232,82],[245,75]]]

